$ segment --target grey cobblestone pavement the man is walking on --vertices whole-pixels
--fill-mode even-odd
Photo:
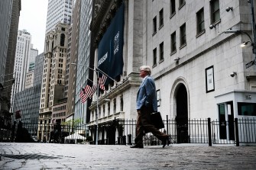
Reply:
[[[256,146],[0,143],[0,169],[256,169]]]

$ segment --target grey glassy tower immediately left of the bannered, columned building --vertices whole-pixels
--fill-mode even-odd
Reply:
[[[89,66],[92,67],[93,60],[90,60],[91,50],[91,31],[89,25],[92,20],[92,0],[81,1],[80,9],[80,23],[79,23],[79,43],[78,43],[78,58],[77,63],[80,65],[76,66],[76,99],[75,99],[75,119],[82,120],[82,123],[89,121],[89,114],[87,113],[87,105],[89,103],[81,103],[79,93],[81,89],[86,86],[88,79],[92,79],[89,76]],[[90,63],[92,62],[92,63]],[[93,72],[92,72],[93,74]]]

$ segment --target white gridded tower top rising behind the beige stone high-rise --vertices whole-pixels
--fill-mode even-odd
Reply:
[[[46,34],[60,22],[71,24],[73,0],[48,0]]]

